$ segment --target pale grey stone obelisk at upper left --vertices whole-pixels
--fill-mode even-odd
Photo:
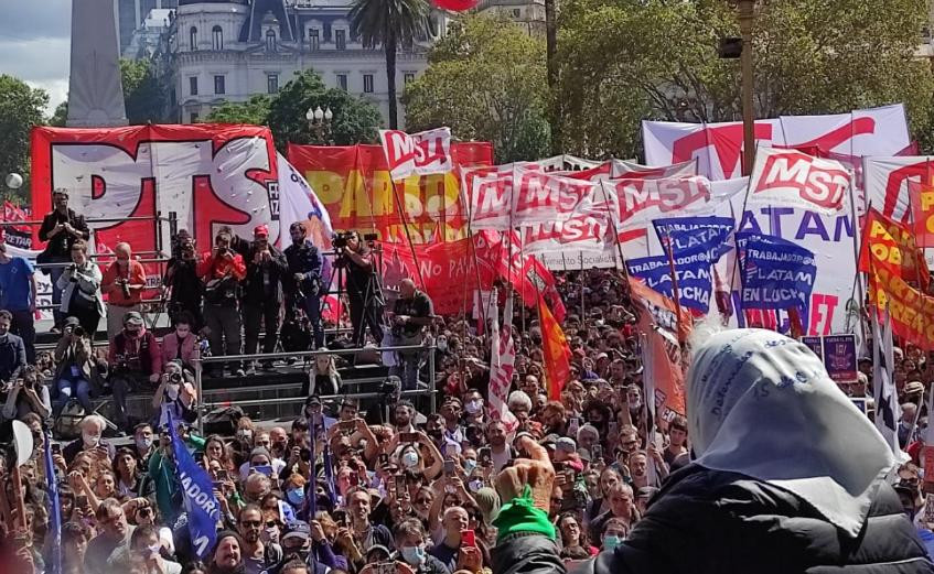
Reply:
[[[72,0],[69,128],[127,124],[114,0]]]

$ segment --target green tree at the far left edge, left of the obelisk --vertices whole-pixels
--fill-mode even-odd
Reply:
[[[33,126],[44,120],[49,95],[25,82],[0,75],[0,177],[8,173],[29,176],[29,139]],[[2,180],[0,180],[2,181]]]

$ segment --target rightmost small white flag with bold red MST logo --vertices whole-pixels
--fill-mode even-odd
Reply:
[[[772,152],[759,171],[754,193],[797,192],[805,202],[825,209],[838,209],[849,186],[849,174],[837,162],[819,160],[799,152]]]

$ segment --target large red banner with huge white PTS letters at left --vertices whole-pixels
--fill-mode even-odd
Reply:
[[[198,249],[207,249],[223,225],[244,237],[260,224],[269,226],[270,239],[279,235],[276,149],[267,128],[34,128],[31,144],[36,217],[51,210],[52,189],[65,188],[72,208],[89,219],[168,217],[174,212],[179,228],[192,232]],[[151,251],[160,234],[169,246],[165,221],[89,225],[101,247],[129,241],[136,251]]]

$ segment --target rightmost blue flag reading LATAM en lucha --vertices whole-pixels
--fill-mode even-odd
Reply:
[[[755,232],[737,234],[737,249],[743,307],[795,307],[807,316],[817,278],[814,253],[781,237]]]

